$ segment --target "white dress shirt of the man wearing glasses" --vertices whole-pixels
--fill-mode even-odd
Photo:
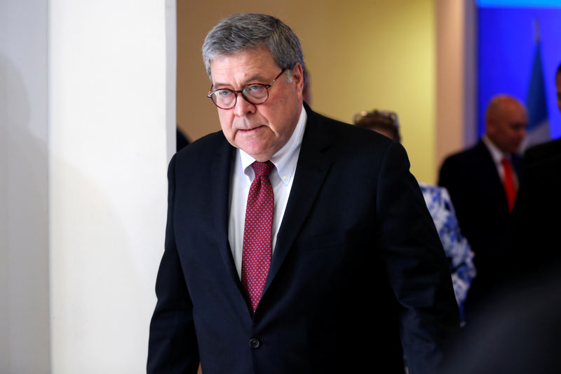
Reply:
[[[302,145],[302,137],[306,128],[306,111],[302,107],[298,123],[286,144],[273,154],[271,162],[275,165],[269,175],[275,198],[273,213],[272,251],[275,251],[278,228],[283,221],[288,196],[294,181],[296,164]],[[245,206],[248,203],[248,194],[255,172],[251,164],[256,161],[252,156],[236,149],[236,160],[231,175],[230,189],[230,216],[228,224],[228,239],[234,264],[241,279],[241,260],[243,255],[243,228],[245,224]],[[271,253],[272,255],[272,253]]]

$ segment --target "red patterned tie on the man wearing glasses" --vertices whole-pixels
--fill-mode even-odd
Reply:
[[[248,194],[243,229],[243,255],[241,283],[255,312],[261,299],[265,279],[271,264],[271,240],[275,201],[269,173],[274,168],[271,161],[252,163],[255,179]]]

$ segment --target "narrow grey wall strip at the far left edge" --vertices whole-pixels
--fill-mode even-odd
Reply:
[[[47,1],[0,1],[0,373],[48,373]]]

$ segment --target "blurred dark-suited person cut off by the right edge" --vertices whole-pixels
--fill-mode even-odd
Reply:
[[[555,76],[561,110],[561,65]],[[489,308],[461,334],[442,374],[559,373],[561,139],[527,149]]]

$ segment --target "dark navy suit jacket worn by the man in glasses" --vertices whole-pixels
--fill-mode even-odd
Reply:
[[[234,147],[213,133],[170,161],[149,373],[403,373],[401,342],[410,373],[435,372],[459,316],[405,149],[305,107],[253,316],[228,239]]]

